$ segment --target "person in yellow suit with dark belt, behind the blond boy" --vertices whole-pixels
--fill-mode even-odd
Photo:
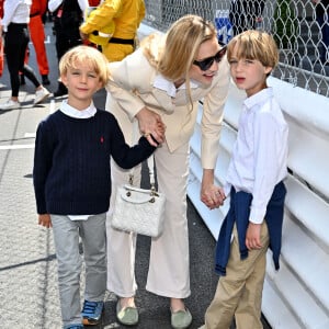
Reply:
[[[114,22],[112,37],[99,48],[109,61],[118,61],[134,52],[136,32],[144,16],[144,0],[104,0],[80,26],[80,35],[88,39]]]

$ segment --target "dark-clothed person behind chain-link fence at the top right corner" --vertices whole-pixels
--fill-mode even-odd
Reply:
[[[321,31],[320,61],[329,65],[329,0],[313,0],[316,18]]]

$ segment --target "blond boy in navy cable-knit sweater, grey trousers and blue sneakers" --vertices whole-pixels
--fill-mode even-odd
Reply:
[[[60,59],[59,71],[68,100],[37,127],[33,182],[38,224],[54,230],[64,328],[72,329],[98,324],[104,307],[110,157],[131,169],[156,147],[146,137],[129,147],[115,117],[94,106],[92,97],[110,75],[107,60],[99,50],[72,48]],[[79,237],[86,262],[82,311]]]

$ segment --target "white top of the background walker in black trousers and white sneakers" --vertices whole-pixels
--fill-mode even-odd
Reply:
[[[27,24],[30,22],[30,8],[32,0],[7,0],[3,4],[3,19],[1,25],[8,31],[10,23]]]

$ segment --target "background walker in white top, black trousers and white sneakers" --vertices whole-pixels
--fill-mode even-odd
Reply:
[[[39,83],[33,69],[24,64],[26,47],[30,41],[27,25],[32,0],[4,1],[4,14],[0,25],[0,36],[4,33],[4,53],[10,73],[11,98],[0,104],[0,110],[20,109],[20,71],[35,86],[34,104],[43,102],[49,91]]]

